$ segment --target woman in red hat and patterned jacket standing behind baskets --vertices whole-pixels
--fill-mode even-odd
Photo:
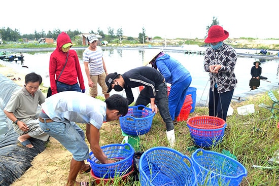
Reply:
[[[228,36],[229,32],[223,27],[213,25],[204,40],[211,45],[204,55],[204,70],[210,72],[209,116],[217,116],[225,121],[237,84],[234,74],[237,54],[233,47],[224,43]]]

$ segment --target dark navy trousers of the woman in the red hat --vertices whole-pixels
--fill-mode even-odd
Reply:
[[[217,116],[226,121],[233,91],[234,89],[219,94],[217,88],[214,88],[214,92],[210,90],[210,99],[208,103],[209,116]]]

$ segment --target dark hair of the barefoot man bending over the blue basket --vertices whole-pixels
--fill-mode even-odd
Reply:
[[[121,116],[125,116],[128,113],[128,99],[124,98],[119,94],[113,94],[104,102],[107,103],[107,108],[109,110],[119,110]]]

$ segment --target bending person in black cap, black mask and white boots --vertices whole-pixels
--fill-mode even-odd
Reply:
[[[126,97],[129,100],[128,104],[134,101],[131,88],[145,86],[140,95],[138,95],[135,105],[146,106],[150,103],[152,111],[157,113],[156,104],[166,124],[167,140],[171,147],[175,145],[175,127],[173,126],[168,108],[167,86],[163,75],[158,70],[152,67],[142,66],[128,70],[122,75],[117,72],[110,73],[106,77],[106,84],[108,86],[108,93],[112,89],[117,92],[124,89]]]

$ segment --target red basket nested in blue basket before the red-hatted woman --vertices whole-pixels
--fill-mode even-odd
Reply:
[[[197,116],[189,118],[187,126],[194,143],[200,147],[215,146],[223,140],[225,120],[213,116]]]

